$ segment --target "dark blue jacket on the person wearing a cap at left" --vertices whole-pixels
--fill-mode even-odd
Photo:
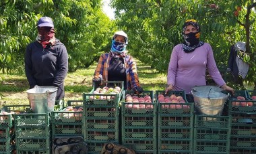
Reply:
[[[26,48],[25,72],[30,88],[57,86],[57,99],[64,98],[64,80],[68,70],[67,49],[59,40],[53,46],[42,48],[32,42]]]

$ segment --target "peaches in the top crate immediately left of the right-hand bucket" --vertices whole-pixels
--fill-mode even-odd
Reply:
[[[171,94],[170,96],[164,96],[163,94],[158,94],[158,102],[161,103],[161,108],[189,108],[187,105],[181,104],[170,104],[170,103],[186,103],[183,96],[176,96]],[[168,103],[168,104],[164,104]]]

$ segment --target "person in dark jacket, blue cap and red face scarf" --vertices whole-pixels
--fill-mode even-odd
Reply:
[[[28,44],[25,56],[25,72],[30,88],[56,86],[57,100],[64,98],[64,79],[68,70],[67,49],[55,38],[55,28],[50,17],[37,22],[36,40]]]

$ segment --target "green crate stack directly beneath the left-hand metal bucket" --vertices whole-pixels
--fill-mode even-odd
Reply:
[[[51,153],[50,116],[46,114],[14,114],[17,153]]]

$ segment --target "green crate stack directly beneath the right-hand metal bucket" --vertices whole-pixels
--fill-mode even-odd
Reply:
[[[194,153],[230,152],[230,116],[195,115]]]

